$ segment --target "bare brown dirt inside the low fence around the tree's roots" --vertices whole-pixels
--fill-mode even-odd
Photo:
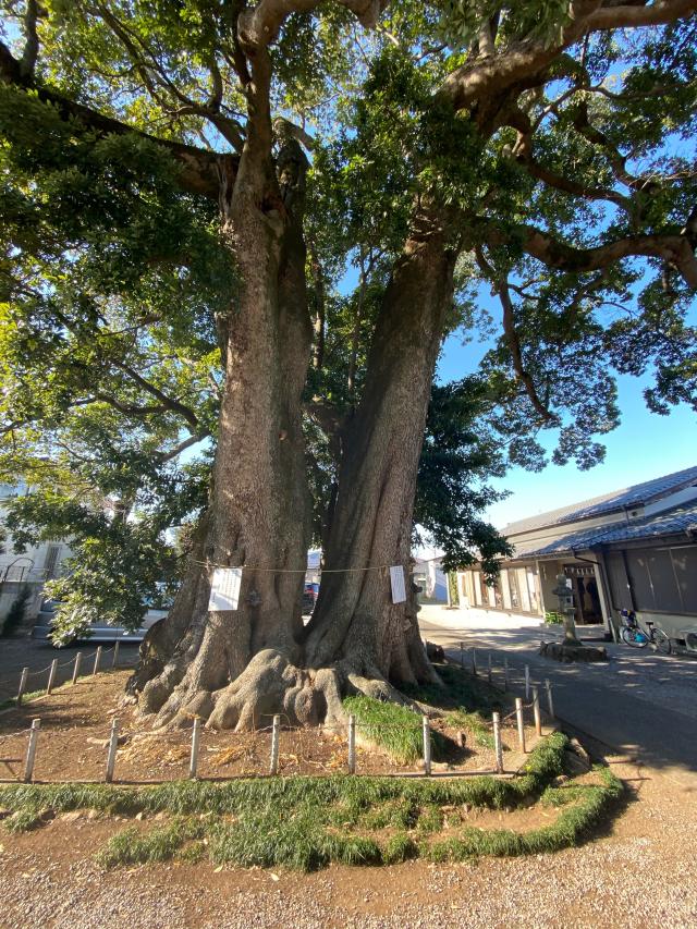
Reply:
[[[115,778],[126,783],[170,781],[187,777],[191,732],[152,733],[130,706],[122,705],[129,671],[109,671],[65,685],[50,697],[33,700],[0,713],[0,781],[19,780],[24,770],[26,730],[40,718],[35,781],[103,780],[107,738],[114,718],[119,719],[121,747],[117,753]],[[268,720],[267,722],[270,722]],[[503,730],[505,745],[514,746],[515,720]],[[455,772],[491,771],[493,751],[465,736],[462,749],[456,732],[436,721],[451,739],[452,757],[435,770]],[[16,735],[14,733],[17,733]],[[527,731],[528,742],[534,731]],[[268,731],[230,733],[201,731],[198,775],[231,778],[267,773],[271,735]],[[279,766],[283,774],[322,774],[345,770],[347,745],[343,736],[321,729],[282,731]],[[380,774],[420,770],[419,765],[396,765],[374,747],[357,748],[357,770]]]

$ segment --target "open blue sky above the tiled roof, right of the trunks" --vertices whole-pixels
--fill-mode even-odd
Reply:
[[[485,345],[476,342],[463,345],[460,335],[451,335],[439,362],[439,379],[463,377],[473,370],[485,351]],[[669,416],[651,413],[641,394],[647,383],[648,378],[617,379],[622,424],[604,437],[608,452],[602,464],[586,472],[574,464],[563,467],[550,464],[539,474],[511,468],[505,477],[492,481],[497,489],[510,490],[511,496],[491,506],[487,517],[502,527],[525,516],[697,464],[697,414],[685,404],[674,407]],[[550,450],[554,445],[552,433],[547,443],[545,439],[541,441]]]

